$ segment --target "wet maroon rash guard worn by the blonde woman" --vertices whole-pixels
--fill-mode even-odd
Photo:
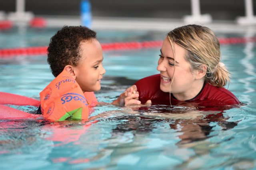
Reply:
[[[212,107],[212,106],[226,106],[236,105],[241,102],[226,88],[218,88],[209,83],[204,83],[202,90],[194,98],[186,101],[177,100],[169,92],[163,92],[160,89],[160,74],[148,76],[138,80],[135,85],[140,93],[139,100],[145,103],[151,100],[152,104],[176,105],[186,106],[192,104],[193,106]]]

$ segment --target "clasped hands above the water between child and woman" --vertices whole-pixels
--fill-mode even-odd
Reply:
[[[120,96],[112,102],[116,106],[129,106],[134,104],[140,104],[139,92],[137,91],[136,85],[132,85],[127,88]]]

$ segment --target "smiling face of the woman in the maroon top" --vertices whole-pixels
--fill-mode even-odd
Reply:
[[[176,53],[175,73],[172,46],[168,38],[165,38],[157,66],[157,70],[161,74],[160,89],[164,92],[171,92],[180,101],[189,100],[200,92],[202,86],[199,84],[196,72],[191,72],[190,64],[185,60],[186,49],[176,43],[174,43],[174,48]],[[200,87],[198,88],[198,86]]]

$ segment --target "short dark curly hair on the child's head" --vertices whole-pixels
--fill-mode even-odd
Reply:
[[[77,66],[80,42],[96,38],[96,32],[85,26],[64,26],[50,39],[47,62],[56,77],[66,65]]]

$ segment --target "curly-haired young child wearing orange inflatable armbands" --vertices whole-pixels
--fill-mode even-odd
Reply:
[[[56,78],[40,92],[38,110],[48,120],[88,120],[89,107],[97,104],[94,91],[106,72],[96,32],[64,26],[50,39],[47,61]],[[112,104],[140,104],[138,96],[132,86]]]

